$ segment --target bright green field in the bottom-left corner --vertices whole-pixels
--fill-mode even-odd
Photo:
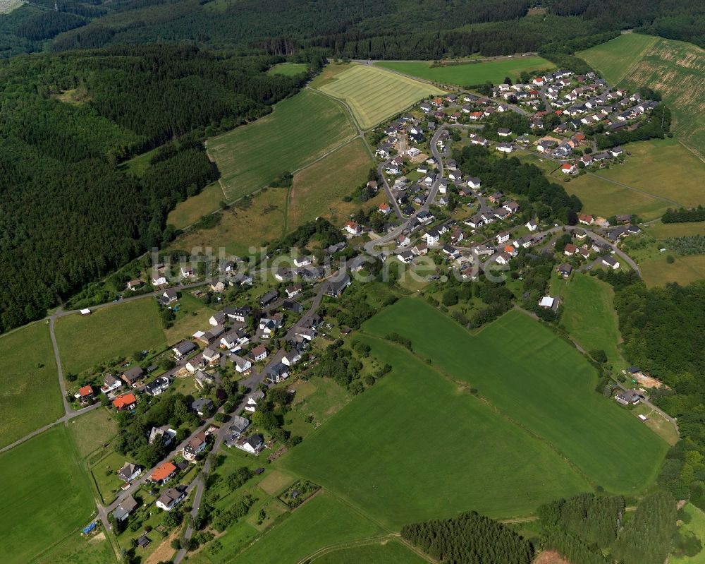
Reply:
[[[25,564],[68,534],[78,536],[78,527],[94,511],[87,476],[64,426],[1,454],[0,481],[0,554],[5,564]]]

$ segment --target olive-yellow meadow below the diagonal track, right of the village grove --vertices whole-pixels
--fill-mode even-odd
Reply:
[[[661,217],[668,208],[675,207],[664,200],[609,182],[596,174],[583,174],[563,184],[563,187],[569,194],[580,198],[583,212],[602,217],[629,213],[649,221]]]

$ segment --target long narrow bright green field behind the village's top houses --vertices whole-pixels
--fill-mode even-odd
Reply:
[[[498,61],[479,61],[462,65],[446,65],[431,67],[431,61],[380,61],[376,66],[388,68],[424,80],[433,80],[436,83],[457,84],[469,86],[484,84],[488,80],[499,84],[508,76],[517,80],[522,71],[543,71],[556,65],[546,61],[540,56],[501,59]]]

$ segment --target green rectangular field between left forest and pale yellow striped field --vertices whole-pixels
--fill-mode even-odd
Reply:
[[[228,200],[234,200],[305,167],[353,133],[341,104],[305,89],[276,104],[268,116],[209,139],[206,147]]]

